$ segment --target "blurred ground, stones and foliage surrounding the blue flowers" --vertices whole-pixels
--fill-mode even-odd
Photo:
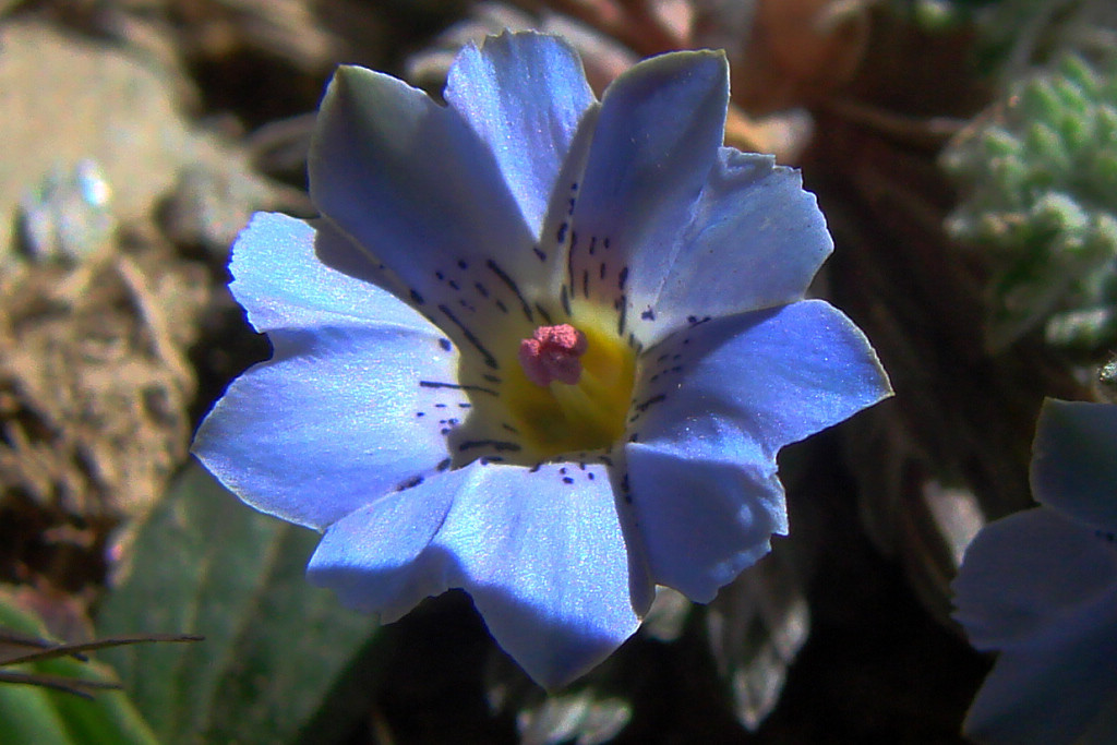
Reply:
[[[724,48],[727,144],[803,170],[837,243],[812,293],[897,393],[781,455],[768,557],[709,606],[661,592],[552,697],[464,594],[343,610],[303,580],[316,536],[188,455],[269,354],[229,246],[314,214],[334,67],[438,96],[504,28],[565,36],[599,95]],[[0,667],[122,685],[0,679],[0,742],[962,742],[991,663],[949,619],[962,552],[1031,504],[1044,395],[1115,400],[1115,65],[1107,0],[0,0],[0,666],[206,637]]]

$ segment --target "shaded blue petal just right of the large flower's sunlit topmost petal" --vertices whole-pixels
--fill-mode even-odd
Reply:
[[[570,222],[573,297],[627,298],[633,257],[674,245],[717,160],[725,131],[728,65],[712,51],[677,52],[633,66],[605,90]],[[630,277],[631,274],[631,277]],[[622,304],[627,304],[627,299]],[[621,307],[621,305],[615,305]]]

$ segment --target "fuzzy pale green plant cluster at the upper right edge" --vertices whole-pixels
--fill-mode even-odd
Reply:
[[[1067,55],[1013,82],[944,153],[951,233],[990,249],[989,342],[1117,342],[1117,67]]]

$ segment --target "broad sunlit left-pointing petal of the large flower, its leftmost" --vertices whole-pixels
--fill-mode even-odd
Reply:
[[[395,304],[416,315],[388,293],[370,290],[366,309]],[[468,402],[443,384],[458,365],[446,338],[402,324],[284,329],[269,337],[273,359],[229,386],[193,443],[241,499],[322,528],[449,466],[446,436]]]

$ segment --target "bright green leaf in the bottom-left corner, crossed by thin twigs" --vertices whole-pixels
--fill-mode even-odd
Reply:
[[[45,630],[38,619],[0,592],[0,627],[32,637]],[[114,682],[106,665],[73,657],[4,666],[6,672],[67,680]],[[75,685],[75,688],[80,686]],[[120,690],[96,690],[92,698],[20,682],[0,682],[0,743],[36,745],[157,745],[143,717]]]

